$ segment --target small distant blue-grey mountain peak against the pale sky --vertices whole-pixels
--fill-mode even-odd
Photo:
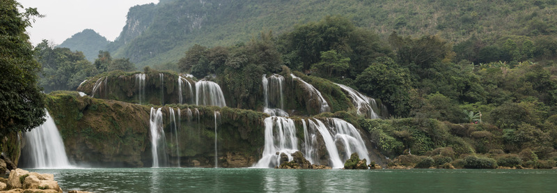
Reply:
[[[100,36],[93,29],[84,29],[56,47],[68,47],[73,51],[81,51],[88,61],[95,61],[99,50],[106,49],[108,44],[107,38]]]

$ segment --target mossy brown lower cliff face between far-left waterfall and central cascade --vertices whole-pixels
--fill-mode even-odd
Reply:
[[[150,108],[115,100],[81,97],[77,92],[53,92],[47,109],[60,130],[68,158],[79,164],[149,167]],[[249,167],[262,152],[266,114],[228,107],[171,105],[162,108],[169,164],[208,167],[214,164],[217,127],[219,167]],[[175,111],[176,123],[170,120]],[[215,112],[219,115],[215,120]],[[174,131],[173,127],[176,127]],[[178,138],[178,144],[173,142]],[[174,140],[175,141],[175,140]],[[22,161],[28,157],[22,157]]]

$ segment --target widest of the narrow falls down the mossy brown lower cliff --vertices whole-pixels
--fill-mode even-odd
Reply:
[[[152,167],[166,167],[168,166],[168,155],[166,154],[166,139],[164,137],[162,125],[162,107],[157,110],[151,107],[149,123],[151,132]],[[159,146],[159,144],[162,146]]]

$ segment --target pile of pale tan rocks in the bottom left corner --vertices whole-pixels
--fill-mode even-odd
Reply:
[[[62,192],[58,182],[54,181],[54,175],[48,173],[29,172],[23,169],[15,169],[10,172],[7,189],[24,189],[31,192]]]

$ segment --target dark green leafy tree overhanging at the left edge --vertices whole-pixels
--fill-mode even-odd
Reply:
[[[38,87],[40,65],[33,59],[33,47],[25,28],[36,8],[19,13],[21,4],[0,1],[0,139],[9,133],[27,132],[45,122],[45,101]]]

